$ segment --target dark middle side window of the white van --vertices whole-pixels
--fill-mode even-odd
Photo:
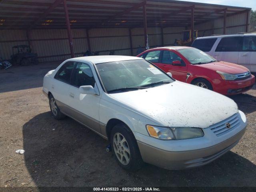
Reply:
[[[238,52],[242,50],[242,37],[224,37],[220,40],[216,52]]]

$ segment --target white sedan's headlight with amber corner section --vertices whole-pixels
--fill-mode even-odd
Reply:
[[[200,128],[159,127],[152,125],[147,125],[146,128],[150,136],[162,140],[182,140],[204,136],[204,132]]]

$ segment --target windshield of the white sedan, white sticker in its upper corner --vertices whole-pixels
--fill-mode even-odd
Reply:
[[[96,64],[107,92],[144,89],[174,80],[146,60],[128,60]]]

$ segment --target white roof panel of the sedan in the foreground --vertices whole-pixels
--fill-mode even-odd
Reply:
[[[77,57],[73,59],[89,61],[94,64],[98,64],[98,63],[116,62],[116,61],[125,61],[125,60],[138,60],[143,58],[133,57],[133,56],[122,56],[122,55],[100,55],[100,56]]]

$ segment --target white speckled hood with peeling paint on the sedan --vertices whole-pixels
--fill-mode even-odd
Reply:
[[[238,112],[232,99],[179,81],[109,96],[158,126],[207,128]]]

